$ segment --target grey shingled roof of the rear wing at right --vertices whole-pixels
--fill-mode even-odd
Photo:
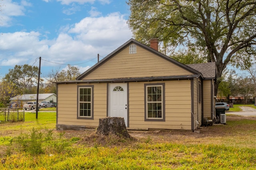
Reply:
[[[202,75],[204,76],[204,79],[215,79],[215,77],[216,77],[215,62],[199,63],[199,64],[186,64],[186,65],[201,72]]]

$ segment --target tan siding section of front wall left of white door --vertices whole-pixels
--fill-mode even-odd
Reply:
[[[94,86],[94,119],[77,119],[77,86]],[[107,115],[107,85],[58,84],[58,124],[97,127],[100,118]]]

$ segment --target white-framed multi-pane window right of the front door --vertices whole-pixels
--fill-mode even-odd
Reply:
[[[145,84],[145,120],[164,121],[164,84]]]

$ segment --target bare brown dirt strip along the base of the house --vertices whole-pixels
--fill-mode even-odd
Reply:
[[[171,141],[193,141],[201,140],[206,141],[210,139],[209,137],[226,137],[232,133],[235,133],[233,129],[228,126],[228,121],[236,121],[241,119],[248,119],[256,121],[256,117],[244,117],[244,116],[227,116],[227,124],[212,125],[208,127],[200,127],[196,131],[184,131],[184,130],[150,130],[150,131],[128,131],[131,137],[138,141],[149,142],[154,141],[158,143],[165,143]],[[239,125],[238,125],[239,126]],[[246,131],[251,125],[242,125],[239,127],[240,130]],[[64,131],[64,136],[67,138],[79,137],[82,139],[82,143],[87,143],[88,145],[119,145],[124,139],[115,138],[113,136],[105,138],[104,136],[96,135],[96,130],[85,130],[85,131]],[[131,140],[128,143],[135,141]],[[127,143],[126,143],[127,144]]]

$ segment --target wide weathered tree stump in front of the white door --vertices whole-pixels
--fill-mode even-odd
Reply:
[[[96,133],[105,136],[114,134],[124,138],[131,137],[126,130],[124,118],[122,117],[106,117],[99,119],[99,126]]]

